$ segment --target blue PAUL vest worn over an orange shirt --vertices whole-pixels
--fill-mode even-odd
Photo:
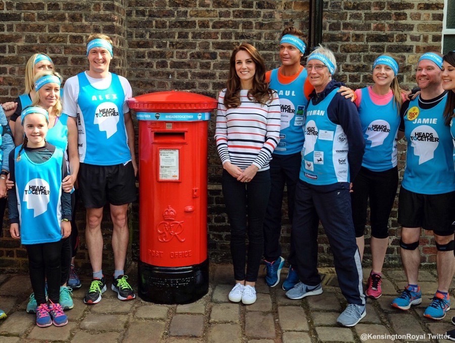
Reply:
[[[306,77],[307,72],[304,69],[294,81],[285,85],[278,81],[278,69],[271,71],[270,88],[277,91],[281,106],[280,142],[274,154],[290,155],[302,150],[305,140],[305,109],[308,105],[303,93]]]

